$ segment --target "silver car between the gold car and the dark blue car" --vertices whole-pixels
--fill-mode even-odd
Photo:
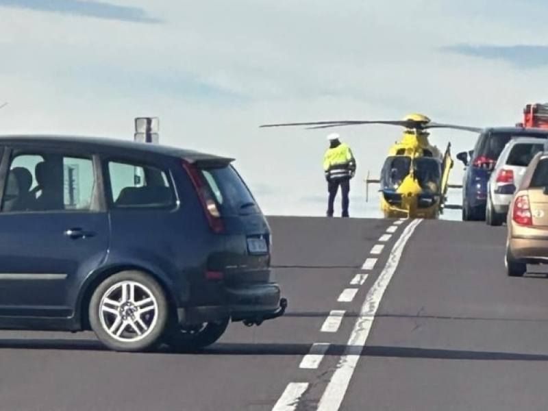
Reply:
[[[502,225],[506,221],[514,191],[534,155],[544,150],[545,143],[545,138],[516,137],[506,144],[487,184],[488,225]]]

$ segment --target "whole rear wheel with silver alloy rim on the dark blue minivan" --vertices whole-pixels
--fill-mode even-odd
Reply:
[[[169,317],[169,306],[158,282],[140,271],[108,277],[93,293],[90,324],[115,351],[145,351],[156,345]]]

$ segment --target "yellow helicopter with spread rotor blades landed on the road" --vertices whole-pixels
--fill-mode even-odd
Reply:
[[[345,125],[386,124],[404,128],[403,137],[390,147],[379,179],[366,177],[366,200],[369,184],[380,184],[380,206],[384,218],[438,219],[444,208],[460,209],[462,206],[446,204],[448,188],[462,188],[449,184],[453,168],[451,143],[445,153],[430,144],[427,129],[445,128],[481,133],[480,127],[434,123],[423,114],[409,114],[395,121],[316,121],[312,123],[266,124],[260,127],[312,126],[323,129]]]

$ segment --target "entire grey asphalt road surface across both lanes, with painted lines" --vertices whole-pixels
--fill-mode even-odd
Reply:
[[[3,332],[0,410],[547,409],[548,281],[506,277],[506,227],[269,221],[286,316],[199,354]]]

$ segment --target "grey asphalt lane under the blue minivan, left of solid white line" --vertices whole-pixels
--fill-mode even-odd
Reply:
[[[289,382],[325,378],[356,318],[343,319],[337,332],[321,327],[330,310],[353,304],[337,299],[390,221],[269,221],[286,316],[260,327],[232,324],[199,354],[114,353],[88,333],[1,332],[0,410],[271,411]],[[318,342],[335,346],[319,369],[299,368]]]

